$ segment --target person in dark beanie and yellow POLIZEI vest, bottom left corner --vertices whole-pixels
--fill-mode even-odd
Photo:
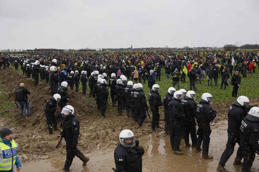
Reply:
[[[21,163],[17,156],[18,144],[12,139],[12,131],[3,127],[0,129],[0,172],[13,172],[14,164],[17,171]]]

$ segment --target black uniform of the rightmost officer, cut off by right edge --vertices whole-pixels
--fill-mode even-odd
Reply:
[[[255,151],[259,152],[259,124],[258,121],[250,121],[247,116],[240,125],[240,147],[243,151],[244,161],[242,171],[248,172],[255,160]]]

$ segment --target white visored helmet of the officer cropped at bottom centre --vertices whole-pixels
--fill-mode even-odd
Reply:
[[[120,132],[119,139],[121,145],[123,145],[124,147],[132,148],[133,146],[135,146],[135,135],[131,130],[122,130]]]

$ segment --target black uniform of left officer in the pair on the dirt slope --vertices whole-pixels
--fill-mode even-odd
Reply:
[[[57,102],[54,97],[51,97],[47,100],[46,107],[44,109],[46,119],[47,119],[49,134],[53,134],[53,130],[52,130],[53,127],[54,129],[58,129],[57,120],[55,117],[56,110],[57,110]]]

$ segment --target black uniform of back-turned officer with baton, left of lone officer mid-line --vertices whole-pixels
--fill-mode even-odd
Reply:
[[[134,90],[131,95],[131,101],[133,102],[135,108],[135,121],[137,120],[138,125],[142,126],[147,117],[146,109],[148,109],[144,91]]]

